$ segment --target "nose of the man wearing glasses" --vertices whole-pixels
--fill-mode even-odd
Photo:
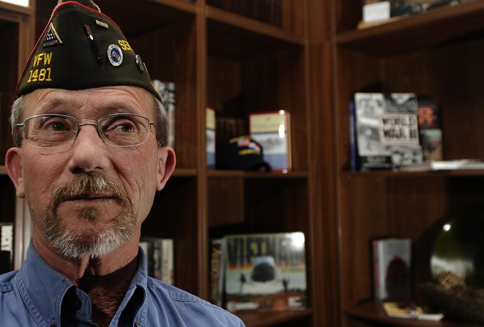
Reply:
[[[106,143],[99,136],[96,124],[79,126],[70,152],[68,169],[73,173],[93,172],[109,166]]]

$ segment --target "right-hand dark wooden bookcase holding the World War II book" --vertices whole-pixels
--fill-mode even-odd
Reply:
[[[342,326],[462,326],[442,321],[387,319],[371,301],[372,238],[400,236],[413,242],[413,293],[431,280],[433,238],[446,217],[482,205],[483,171],[350,172],[350,100],[356,91],[411,91],[442,107],[445,159],[484,158],[480,81],[484,62],[484,1],[466,1],[390,23],[357,29],[361,1],[326,3],[333,13],[331,38],[334,86],[338,214],[329,227],[338,233],[339,292],[334,301]]]

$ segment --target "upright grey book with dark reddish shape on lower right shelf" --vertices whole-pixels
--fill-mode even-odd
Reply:
[[[375,299],[409,300],[412,297],[412,241],[409,238],[375,239],[372,248]]]

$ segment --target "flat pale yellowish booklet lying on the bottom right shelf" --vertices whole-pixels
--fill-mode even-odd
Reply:
[[[444,317],[442,312],[434,312],[428,307],[407,302],[383,302],[383,309],[387,316],[393,318],[421,319],[440,321]]]

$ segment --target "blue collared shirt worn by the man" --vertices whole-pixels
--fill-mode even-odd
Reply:
[[[91,300],[37,254],[32,244],[18,271],[0,276],[2,327],[94,327]],[[139,268],[110,327],[243,327],[233,314],[184,290],[146,276]]]

